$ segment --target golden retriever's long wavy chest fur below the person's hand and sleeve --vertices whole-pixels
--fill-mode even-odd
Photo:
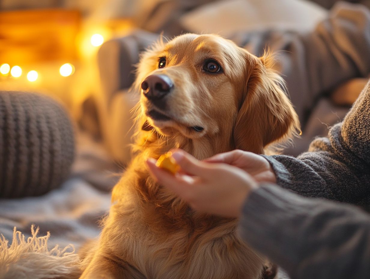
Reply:
[[[143,166],[134,160],[115,186],[100,243],[141,273],[132,278],[259,278],[263,259],[238,238],[236,220],[193,212]]]

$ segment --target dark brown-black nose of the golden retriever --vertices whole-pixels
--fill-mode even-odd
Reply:
[[[154,101],[162,99],[173,87],[174,83],[165,74],[152,74],[141,83],[144,96]]]

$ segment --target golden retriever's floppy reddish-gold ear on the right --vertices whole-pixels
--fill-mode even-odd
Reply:
[[[246,52],[246,63],[247,83],[234,128],[235,147],[264,153],[270,143],[295,136],[299,120],[282,77],[272,69],[270,53],[257,58]]]

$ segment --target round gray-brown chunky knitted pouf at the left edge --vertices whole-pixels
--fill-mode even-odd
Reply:
[[[0,91],[0,198],[60,186],[74,158],[71,121],[50,97]]]

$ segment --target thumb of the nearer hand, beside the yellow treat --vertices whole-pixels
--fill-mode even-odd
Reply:
[[[171,150],[172,158],[175,159],[176,163],[181,167],[181,170],[189,175],[204,176],[205,171],[208,168],[205,163],[197,160],[195,157],[186,153],[184,150],[175,149]]]

